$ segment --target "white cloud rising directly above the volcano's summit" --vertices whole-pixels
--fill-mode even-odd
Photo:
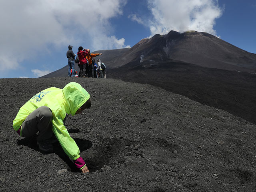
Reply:
[[[196,30],[216,35],[215,19],[223,12],[218,0],[148,0],[148,9],[153,18],[144,23],[148,24],[151,35],[166,34],[170,30]]]

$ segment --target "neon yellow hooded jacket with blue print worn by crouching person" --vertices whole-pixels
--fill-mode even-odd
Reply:
[[[70,159],[76,160],[80,157],[80,150],[76,142],[70,137],[63,120],[66,114],[74,116],[89,98],[90,94],[76,82],[70,82],[63,89],[56,87],[45,89],[33,96],[20,108],[12,126],[17,131],[31,112],[40,106],[49,107],[52,110],[52,131],[64,152]]]

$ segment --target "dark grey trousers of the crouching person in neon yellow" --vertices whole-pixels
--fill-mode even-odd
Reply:
[[[22,123],[21,136],[31,137],[38,132],[38,141],[51,138],[52,132],[52,110],[41,106],[30,113]]]

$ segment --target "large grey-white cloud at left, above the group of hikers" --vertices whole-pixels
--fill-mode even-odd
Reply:
[[[126,0],[1,1],[0,70],[19,68],[38,52],[48,54],[68,44],[91,46],[97,38],[102,40],[97,47],[125,47],[123,38],[111,36],[109,22],[122,14],[125,4]]]

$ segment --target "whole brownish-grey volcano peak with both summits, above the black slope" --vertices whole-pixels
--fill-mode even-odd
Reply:
[[[178,60],[208,68],[256,72],[256,54],[248,53],[228,42],[204,32],[156,34],[143,39],[119,58],[113,59],[109,68],[125,64],[154,65],[159,61]]]

